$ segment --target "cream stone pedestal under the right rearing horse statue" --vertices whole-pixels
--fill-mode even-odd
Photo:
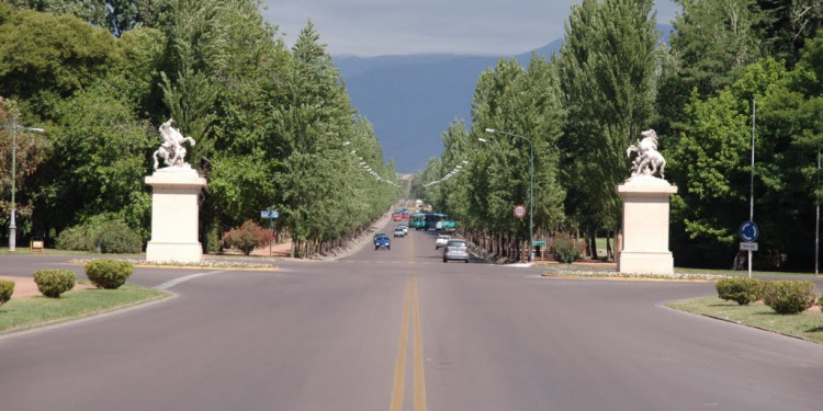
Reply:
[[[618,271],[673,274],[668,203],[677,186],[655,176],[638,175],[618,185],[617,192],[623,199],[623,249],[618,256]]]

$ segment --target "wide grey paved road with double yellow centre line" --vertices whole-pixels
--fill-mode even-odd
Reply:
[[[450,262],[433,232],[0,338],[2,410],[816,410],[823,346],[673,311],[712,284]],[[0,274],[67,266],[0,256]],[[67,266],[81,272],[77,266]],[[205,274],[191,277],[193,274]]]

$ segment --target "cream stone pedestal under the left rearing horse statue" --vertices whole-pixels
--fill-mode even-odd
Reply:
[[[198,195],[206,180],[188,164],[167,167],[146,176],[151,186],[151,240],[146,261],[193,263],[203,258],[198,241],[200,214]]]

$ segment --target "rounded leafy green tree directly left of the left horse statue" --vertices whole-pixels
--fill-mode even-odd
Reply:
[[[37,175],[38,218],[60,229],[108,216],[147,238],[151,203],[143,179],[154,129],[104,82],[58,104],[55,117],[53,155]]]

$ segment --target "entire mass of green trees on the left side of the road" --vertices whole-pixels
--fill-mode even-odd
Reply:
[[[120,220],[149,237],[144,176],[174,118],[196,140],[187,161],[208,185],[202,242],[260,210],[280,212],[295,252],[357,235],[399,197],[371,124],[353,110],[308,22],[291,48],[258,0],[0,2],[0,224],[10,209],[18,134],[22,236]],[[8,240],[8,229],[3,239]]]

